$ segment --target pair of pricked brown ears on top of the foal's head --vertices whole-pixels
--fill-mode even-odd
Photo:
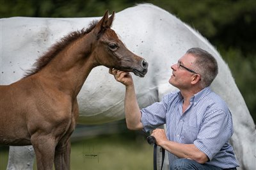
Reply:
[[[114,16],[115,16],[115,12],[113,12],[111,17],[108,18],[108,10],[107,10],[106,13],[104,14],[104,16],[102,17],[102,19],[100,19],[100,21],[98,22],[97,26],[93,30],[93,33],[95,33],[95,35],[99,36],[106,29],[111,27],[112,22],[114,20]]]

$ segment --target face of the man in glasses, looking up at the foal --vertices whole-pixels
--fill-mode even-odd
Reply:
[[[192,54],[185,54],[179,59],[178,63],[171,66],[172,76],[169,79],[169,83],[179,89],[187,89],[191,87],[191,81],[193,79],[193,63],[195,57]]]

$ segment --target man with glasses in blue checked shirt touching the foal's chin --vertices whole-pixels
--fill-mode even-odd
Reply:
[[[169,83],[179,89],[140,110],[130,73],[109,70],[125,85],[125,118],[131,130],[153,130],[157,145],[168,151],[170,169],[236,169],[232,116],[209,86],[218,74],[216,59],[200,48],[189,49],[171,66]]]

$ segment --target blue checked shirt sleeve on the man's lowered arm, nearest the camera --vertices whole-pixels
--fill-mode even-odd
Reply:
[[[194,141],[196,148],[212,160],[233,134],[232,116],[228,109],[213,109],[205,114],[204,123]]]

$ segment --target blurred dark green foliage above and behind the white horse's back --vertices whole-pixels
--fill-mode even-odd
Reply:
[[[256,120],[254,0],[1,0],[0,17],[95,17],[152,3],[198,30],[220,52]]]

